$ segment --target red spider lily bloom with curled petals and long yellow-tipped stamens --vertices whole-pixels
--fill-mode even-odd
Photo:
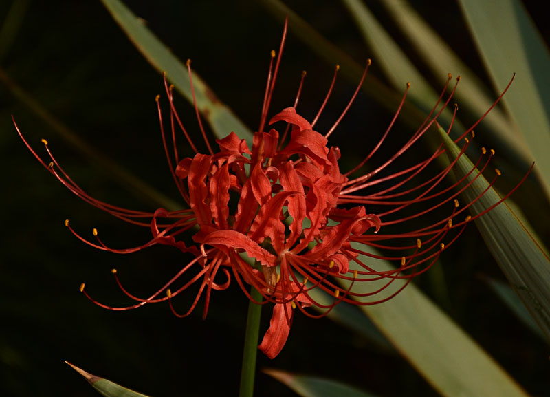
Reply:
[[[166,244],[176,246],[184,253],[195,255],[195,259],[192,259],[162,288],[158,288],[147,298],[136,297],[127,291],[118,279],[116,270],[113,269],[115,279],[124,294],[135,301],[133,305],[114,308],[99,303],[89,296],[83,284],[80,290],[89,299],[109,310],[129,310],[146,303],[168,301],[174,314],[184,317],[195,309],[199,299],[204,296],[203,316],[206,316],[212,290],[225,290],[230,285],[231,279],[234,278],[249,299],[252,297],[246,284],[261,292],[264,301],[256,303],[274,303],[270,328],[259,346],[267,356],[273,358],[281,352],[287,340],[294,308],[298,308],[308,316],[318,316],[311,314],[306,308],[318,305],[320,308],[326,309],[324,313],[326,314],[341,301],[356,305],[372,305],[386,301],[395,296],[407,283],[404,283],[389,297],[377,299],[376,294],[390,286],[396,279],[407,279],[408,282],[412,277],[425,272],[434,264],[443,250],[463,232],[467,223],[474,219],[474,217],[462,215],[460,221],[454,220],[479,198],[459,208],[456,197],[473,182],[465,182],[467,176],[456,181],[452,186],[443,186],[443,180],[452,169],[454,162],[437,175],[418,182],[423,173],[426,173],[426,167],[444,153],[442,145],[428,158],[419,160],[400,171],[379,176],[390,164],[395,163],[403,153],[408,151],[428,129],[434,125],[439,127],[436,121],[437,117],[450,103],[459,78],[456,79],[456,84],[445,99],[445,92],[447,92],[448,83],[451,81],[449,76],[448,83],[445,84],[439,100],[425,122],[391,158],[377,167],[372,167],[372,171],[369,173],[351,178],[352,174],[355,175],[366,162],[371,160],[388,137],[399,111],[401,111],[409,85],[393,120],[375,149],[357,167],[347,173],[340,173],[338,165],[340,150],[337,147],[327,146],[327,138],[336,129],[353,103],[363,83],[370,61],[367,63],[360,84],[349,104],[325,135],[315,131],[314,126],[331,94],[338,67],[329,93],[312,122],[300,116],[296,111],[305,76],[303,74],[294,106],[283,109],[267,123],[271,126],[281,125],[280,122],[285,122],[285,129],[272,127],[266,131],[267,114],[274,92],[285,36],[286,25],[279,56],[272,52],[260,127],[258,132],[254,133],[252,148],[245,140],[239,139],[236,133],[231,132],[225,138],[216,140],[219,149],[214,151],[202,127],[195,103],[197,120],[209,152],[208,154],[199,153],[175,110],[173,87],[168,87],[166,78],[164,78],[166,94],[170,103],[173,153],[170,153],[168,148],[162,111],[157,96],[164,149],[175,184],[189,209],[166,211],[159,208],[154,213],[148,213],[131,211],[96,200],[63,171],[45,140],[43,143],[50,155],[50,164],[46,164],[30,147],[16,125],[23,142],[34,156],[69,190],[115,217],[132,224],[150,227],[153,234],[150,241],[140,246],[122,250],[114,249],[102,242],[96,229],[94,229],[95,241],[81,237],[73,230],[67,219],[65,225],[76,237],[100,250],[113,253],[133,253],[155,244]],[[190,62],[187,65],[191,78]],[[456,107],[454,115],[456,115]],[[483,120],[485,115],[478,122]],[[455,141],[464,141],[461,154],[467,149],[470,142],[467,136],[474,135],[472,129],[478,122]],[[179,158],[177,149],[175,149],[178,127],[183,131],[188,144],[196,153],[193,158]],[[452,124],[449,130],[451,127]],[[279,131],[284,132],[280,133]],[[485,152],[483,149],[484,154]],[[483,161],[482,156],[475,164],[476,167],[480,166],[482,172],[494,154],[493,151],[488,153],[486,160]],[[177,164],[176,167],[173,166],[174,164]],[[474,172],[474,169],[471,172]],[[391,182],[389,187],[376,189],[377,186],[388,184],[388,182]],[[231,197],[237,199],[234,206],[230,204]],[[426,203],[428,204],[427,209],[425,207],[415,209]],[[387,209],[373,214],[366,210],[366,206]],[[377,233],[379,230],[384,231],[385,226],[395,224],[404,228],[407,222],[424,217],[443,206],[449,206],[449,211],[428,226],[412,228],[412,230],[401,233]],[[487,208],[486,211],[490,209]],[[180,235],[186,232],[193,233],[192,239],[197,244],[196,246],[187,246],[182,241]],[[404,243],[400,244],[401,241]],[[382,252],[386,254],[377,255],[364,252],[357,246],[352,246],[352,242],[381,248]],[[387,254],[392,252],[396,252],[396,254]],[[371,264],[364,263],[359,255],[395,261],[398,266],[395,270],[377,271],[371,267]],[[251,265],[246,257],[253,259],[254,265]],[[350,261],[353,261],[355,268],[358,267],[359,270],[350,270]],[[174,288],[176,281],[179,282],[179,286],[183,277],[186,277],[184,285],[178,287],[177,290],[170,290],[170,288]],[[340,286],[339,283],[336,283],[336,279],[348,281],[349,287]],[[368,294],[354,292],[353,284],[364,281],[384,281],[384,285]],[[187,312],[179,314],[173,307],[172,299],[194,283],[199,283],[195,300]],[[316,301],[309,294],[309,291],[314,288],[329,292],[334,297],[333,302],[330,305],[323,305]],[[374,298],[371,299],[371,297]]]

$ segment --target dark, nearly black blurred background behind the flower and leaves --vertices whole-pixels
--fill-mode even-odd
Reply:
[[[280,19],[261,2],[127,3],[179,58],[192,58],[194,69],[245,124],[258,124],[270,50],[278,47],[281,36]],[[356,61],[371,56],[340,3],[287,4]],[[446,1],[412,4],[483,76],[458,6]],[[380,21],[387,19],[375,2],[369,5]],[[525,6],[548,39],[538,2],[525,1]],[[0,395],[97,396],[64,360],[151,396],[235,395],[248,306],[239,287],[213,295],[206,321],[200,305],[187,319],[177,319],[163,304],[110,312],[89,302],[78,292],[82,282],[103,303],[124,302],[110,273],[113,267],[128,288],[146,294],[187,258],[166,246],[122,256],[79,242],[63,226],[67,217],[83,235],[98,228],[104,242],[116,248],[146,242],[149,233],[67,191],[36,162],[11,121],[13,115],[44,155],[40,140],[47,138],[65,170],[94,197],[151,211],[158,204],[129,189],[102,159],[177,200],[154,102],[163,91],[161,76],[100,1],[3,0],[0,23]],[[303,114],[314,116],[334,63],[289,34],[272,114],[292,103],[300,73],[307,69],[300,106]],[[369,73],[384,80],[376,59]],[[355,84],[340,78],[320,131],[336,120]],[[331,138],[342,149],[342,168],[360,160],[391,120],[391,112],[375,99],[360,94]],[[197,132],[192,107],[183,98],[177,103],[188,128]],[[412,132],[402,124],[396,129]],[[391,145],[386,150],[391,152]],[[525,211],[531,219],[548,215],[545,206],[525,206]],[[550,241],[547,227],[538,230]],[[527,391],[549,395],[544,381],[549,347],[487,288],[484,277],[503,277],[474,227],[441,263],[415,282]],[[177,302],[181,310],[182,300]],[[263,331],[269,310],[265,308]],[[335,378],[379,396],[437,395],[404,358],[329,319],[298,314],[283,352],[273,361],[259,354],[258,365]],[[256,383],[259,396],[295,396],[265,374],[259,373]]]

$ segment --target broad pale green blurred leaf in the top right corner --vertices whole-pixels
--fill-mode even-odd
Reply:
[[[503,98],[537,162],[550,195],[550,54],[518,0],[459,1],[481,58],[498,92],[516,80]],[[498,17],[494,17],[498,15]]]

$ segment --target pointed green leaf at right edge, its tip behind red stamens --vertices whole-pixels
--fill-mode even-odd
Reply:
[[[459,156],[461,149],[454,144],[443,129],[439,134],[450,159]],[[453,171],[457,178],[474,169],[474,164],[461,155]],[[467,181],[476,178],[477,169],[467,177]],[[485,190],[487,190],[485,192]],[[483,193],[485,192],[485,193]],[[483,194],[483,195],[482,195]],[[489,182],[479,175],[464,191],[472,214],[478,214],[491,208],[501,199]],[[482,195],[478,200],[476,197]],[[476,200],[474,202],[474,200]],[[510,211],[505,202],[493,208],[489,213],[475,219],[485,244],[498,262],[511,286],[519,294],[529,312],[536,319],[544,334],[550,338],[550,260],[538,246],[520,220]]]

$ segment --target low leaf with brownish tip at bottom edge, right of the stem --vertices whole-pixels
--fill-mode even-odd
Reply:
[[[296,375],[279,369],[264,369],[263,372],[284,383],[302,397],[375,397],[374,394],[365,393],[335,380]]]

